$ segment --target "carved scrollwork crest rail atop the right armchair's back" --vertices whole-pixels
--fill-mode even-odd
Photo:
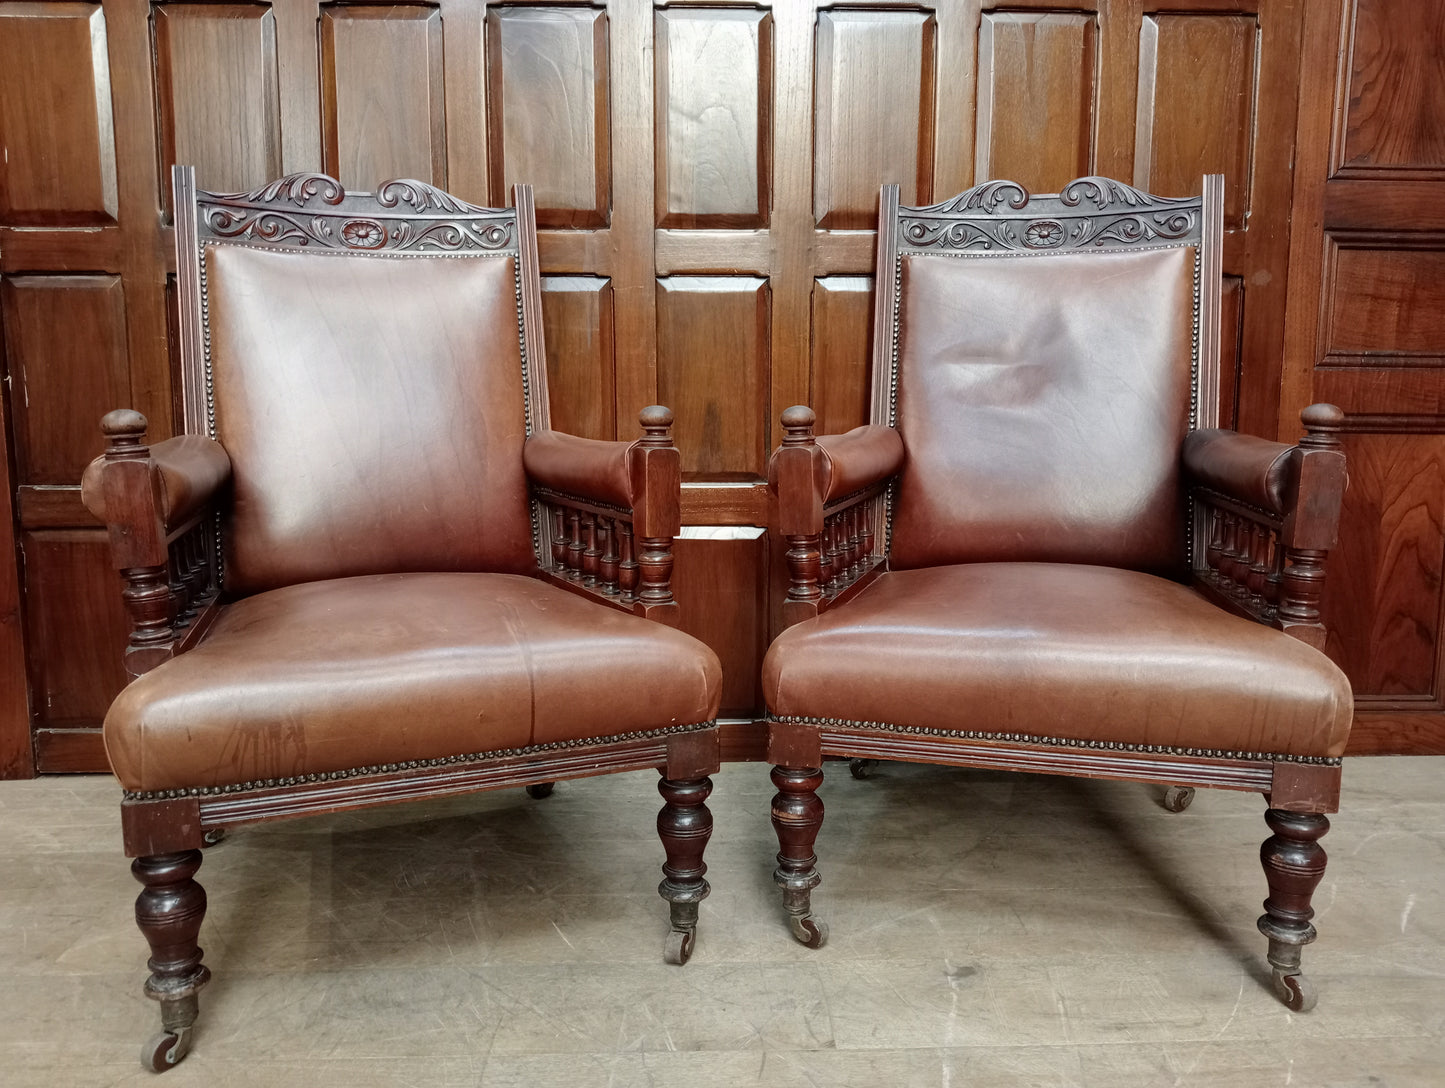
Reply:
[[[1040,197],[993,181],[942,204],[900,208],[899,241],[906,250],[954,253],[1188,243],[1199,240],[1199,210],[1198,198],[1153,197],[1110,178],[1079,178]]]

